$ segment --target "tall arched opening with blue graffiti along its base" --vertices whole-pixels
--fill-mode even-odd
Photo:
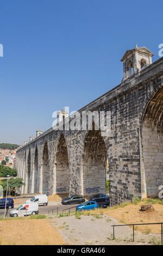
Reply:
[[[106,148],[101,131],[87,132],[83,154],[82,193],[86,195],[106,193]]]

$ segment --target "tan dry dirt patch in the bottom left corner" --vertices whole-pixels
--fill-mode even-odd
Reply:
[[[64,245],[48,220],[0,221],[0,245]]]

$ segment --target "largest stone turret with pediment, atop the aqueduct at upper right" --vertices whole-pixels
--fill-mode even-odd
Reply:
[[[121,59],[121,62],[123,62],[122,81],[152,64],[152,56],[154,56],[154,54],[145,46],[137,47],[137,45],[135,45],[134,49],[127,50]]]

